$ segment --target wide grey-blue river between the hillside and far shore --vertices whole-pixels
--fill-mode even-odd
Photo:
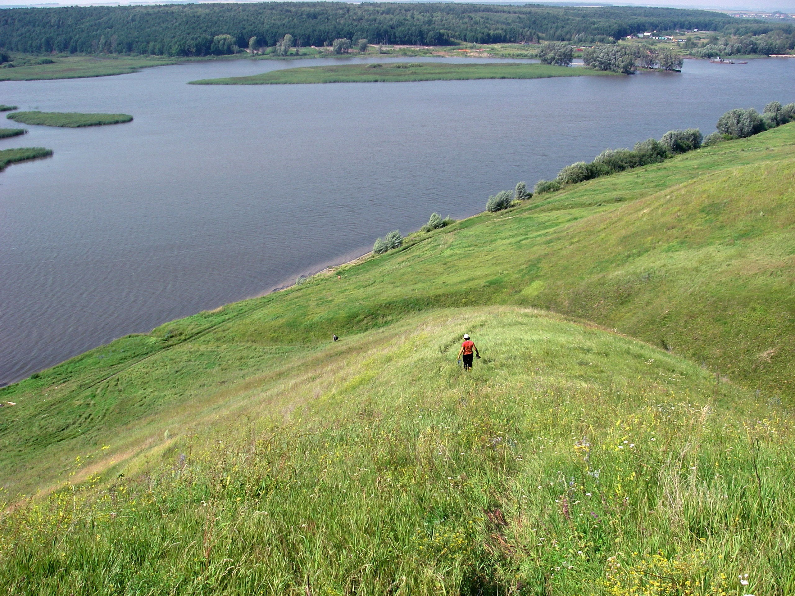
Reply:
[[[55,152],[0,173],[0,385],[347,261],[432,211],[472,215],[607,147],[708,134],[731,108],[795,101],[787,59],[622,77],[185,84],[310,64],[328,60],[0,83],[0,103],[21,110],[135,117],[0,140]]]

